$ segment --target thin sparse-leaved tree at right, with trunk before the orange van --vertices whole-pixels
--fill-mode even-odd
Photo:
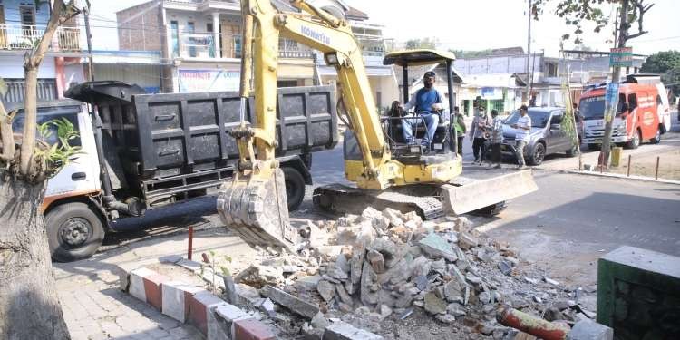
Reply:
[[[581,44],[581,35],[583,34],[584,22],[590,22],[595,24],[594,31],[600,32],[602,28],[607,26],[610,21],[610,17],[605,15],[602,10],[602,5],[611,5],[613,3],[620,3],[619,19],[618,19],[618,36],[617,36],[617,48],[627,47],[626,44],[629,40],[636,38],[640,35],[647,34],[643,27],[643,21],[645,14],[654,6],[654,4],[649,4],[646,0],[534,0],[532,7],[532,14],[535,19],[539,19],[539,15],[543,13],[543,8],[548,3],[556,2],[558,3],[555,14],[559,17],[564,18],[565,24],[574,27],[574,34],[576,35],[574,39],[575,44]],[[637,32],[630,33],[632,23],[637,23]],[[563,40],[569,39],[570,34],[564,34],[562,36]],[[621,67],[615,66],[612,70],[612,83],[619,83],[621,78]],[[616,101],[618,101],[618,96],[616,96]],[[609,163],[609,154],[611,146],[611,134],[613,125],[613,116],[616,113],[617,102],[613,102],[613,105],[607,107],[607,112],[605,112],[605,135],[602,138],[602,151],[600,151],[599,166],[607,168]]]

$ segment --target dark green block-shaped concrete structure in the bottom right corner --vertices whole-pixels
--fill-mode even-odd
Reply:
[[[617,339],[680,338],[680,257],[620,247],[597,261],[597,323]]]

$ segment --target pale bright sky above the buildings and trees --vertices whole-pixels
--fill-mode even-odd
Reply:
[[[397,42],[413,38],[436,38],[442,49],[484,50],[488,48],[527,47],[527,10],[529,0],[345,0],[363,11],[372,24],[384,25],[384,37]],[[647,0],[655,5],[645,15],[648,34],[631,40],[634,53],[652,54],[659,51],[680,51],[680,1]],[[93,48],[116,50],[116,11],[139,5],[146,0],[90,0],[92,4]],[[552,0],[557,2],[557,0]],[[613,7],[604,7],[609,14]],[[532,21],[531,50],[559,56],[562,34],[573,28],[547,9],[539,21]],[[612,19],[613,20],[613,19]],[[636,25],[633,27],[636,32]],[[613,29],[600,34],[585,29],[584,45],[607,51],[612,47]],[[571,41],[565,48],[573,48]]]

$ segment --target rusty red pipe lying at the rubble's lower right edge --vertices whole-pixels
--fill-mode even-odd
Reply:
[[[571,330],[568,325],[551,323],[513,308],[500,309],[496,319],[502,325],[519,329],[524,333],[537,336],[543,340],[564,340]]]

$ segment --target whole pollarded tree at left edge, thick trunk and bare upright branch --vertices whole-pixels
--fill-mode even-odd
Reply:
[[[36,6],[45,1],[36,1]],[[53,0],[40,40],[24,55],[24,131],[0,101],[0,338],[68,339],[56,292],[44,221],[44,182],[58,164],[56,149],[37,141],[37,74],[57,28],[80,11]]]

